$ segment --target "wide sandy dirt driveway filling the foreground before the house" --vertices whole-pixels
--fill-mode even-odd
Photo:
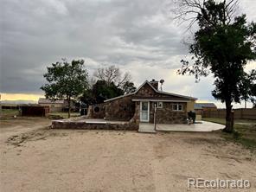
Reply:
[[[1,122],[1,191],[221,191],[188,178],[247,179],[255,155],[220,133],[50,130],[45,118]],[[243,191],[242,189],[222,189]]]

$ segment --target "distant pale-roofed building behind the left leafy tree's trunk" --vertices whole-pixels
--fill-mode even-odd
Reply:
[[[45,99],[40,98],[38,100],[38,104],[40,106],[49,106],[50,112],[64,112],[68,110],[68,104],[66,99],[57,99],[57,100],[51,100],[51,99]],[[71,102],[71,109],[74,108],[74,102]]]

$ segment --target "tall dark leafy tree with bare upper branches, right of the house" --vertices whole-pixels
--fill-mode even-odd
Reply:
[[[255,72],[246,73],[247,61],[256,59],[256,24],[246,23],[246,15],[235,16],[237,1],[181,0],[176,18],[195,22],[198,30],[189,53],[190,61],[182,60],[179,74],[193,74],[195,79],[214,74],[215,99],[226,105],[226,127],[232,132],[232,103],[255,97]],[[190,62],[193,64],[190,65]]]

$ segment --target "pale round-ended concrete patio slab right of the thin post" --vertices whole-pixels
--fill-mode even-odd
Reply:
[[[225,125],[215,124],[207,121],[199,121],[196,124],[158,124],[157,131],[192,131],[192,132],[209,132],[224,129]]]

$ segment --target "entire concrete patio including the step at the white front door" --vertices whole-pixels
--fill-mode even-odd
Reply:
[[[191,132],[209,132],[224,129],[225,125],[215,124],[207,121],[199,121],[191,125],[180,124],[157,124],[157,131],[191,131]],[[139,124],[139,132],[155,133],[154,124]]]

